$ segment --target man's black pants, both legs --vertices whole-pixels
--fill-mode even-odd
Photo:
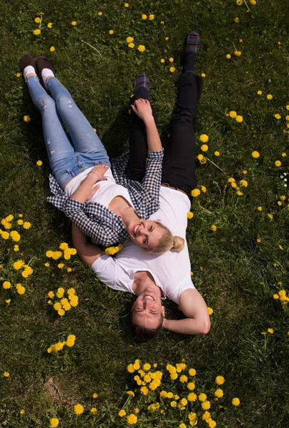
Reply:
[[[194,124],[201,85],[202,78],[195,76],[194,73],[186,72],[180,76],[177,107],[162,163],[162,183],[183,190],[190,200],[191,189],[196,188]],[[144,88],[131,98],[131,104],[138,98],[148,99],[148,93]],[[153,107],[152,113],[157,124],[157,115]],[[142,119],[133,111],[131,114],[130,178],[141,181],[147,158],[147,133]]]

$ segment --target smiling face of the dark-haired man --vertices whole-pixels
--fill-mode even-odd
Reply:
[[[159,327],[161,315],[164,317],[161,298],[154,287],[146,287],[132,305],[132,322],[154,329]]]

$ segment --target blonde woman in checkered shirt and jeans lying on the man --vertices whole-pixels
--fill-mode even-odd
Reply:
[[[138,183],[119,176],[122,185],[118,185],[103,144],[70,93],[55,77],[51,61],[45,57],[35,61],[31,54],[25,54],[20,66],[32,101],[41,111],[48,160],[54,175],[50,176],[54,196],[48,198],[49,202],[63,210],[94,243],[107,246],[131,238],[144,250],[154,253],[172,248],[182,250],[179,237],[173,237],[161,223],[148,220],[159,208],[163,158],[149,101],[138,99],[132,106],[147,133],[149,151],[144,179]],[[137,91],[141,86],[142,76],[135,81]],[[68,128],[74,148],[61,119]]]

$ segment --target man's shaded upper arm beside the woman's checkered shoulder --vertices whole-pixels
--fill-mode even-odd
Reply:
[[[78,251],[78,255],[85,265],[91,266],[100,258],[101,255],[105,254],[103,250],[98,248],[96,245],[88,243],[88,237],[73,223],[72,225],[72,236],[73,245]]]

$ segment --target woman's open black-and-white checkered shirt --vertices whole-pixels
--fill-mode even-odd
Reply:
[[[159,209],[159,190],[162,179],[162,158],[164,151],[147,153],[146,172],[142,183],[129,178],[129,151],[112,160],[112,173],[117,184],[127,188],[135,212],[147,220]],[[119,215],[97,202],[80,203],[70,199],[58,185],[53,175],[49,176],[51,192],[54,196],[48,202],[63,211],[93,243],[114,245],[130,238]]]

